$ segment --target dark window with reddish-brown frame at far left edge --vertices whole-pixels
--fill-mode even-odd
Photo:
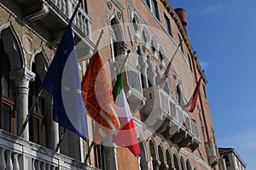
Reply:
[[[1,77],[1,110],[0,128],[9,133],[16,133],[15,120],[15,82],[9,79],[10,60],[4,52],[3,41],[0,39],[0,77]]]

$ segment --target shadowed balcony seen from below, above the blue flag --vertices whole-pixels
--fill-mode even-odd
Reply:
[[[75,0],[15,0],[1,3],[9,8],[19,20],[36,31],[40,37],[54,45],[61,41],[67,23],[77,5]],[[73,20],[73,33],[75,42],[83,42],[81,45],[84,49],[83,55],[91,54],[94,46],[90,41],[91,24],[90,16],[84,12],[83,8],[79,8]]]

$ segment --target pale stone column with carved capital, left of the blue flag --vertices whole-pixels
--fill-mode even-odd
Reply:
[[[35,74],[26,68],[20,68],[9,72],[9,78],[15,81],[17,88],[16,108],[17,108],[17,133],[20,135],[21,127],[28,114],[28,91],[29,82],[34,81]],[[24,130],[22,138],[29,140],[28,124]]]

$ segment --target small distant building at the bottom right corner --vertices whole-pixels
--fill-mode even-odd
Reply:
[[[245,162],[241,159],[234,148],[218,148],[219,156],[224,159],[223,167],[227,170],[244,170]]]

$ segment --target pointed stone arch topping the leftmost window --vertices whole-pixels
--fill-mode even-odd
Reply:
[[[0,26],[0,37],[3,41],[3,49],[9,56],[10,69],[25,68],[26,56],[24,48],[22,47],[11,20]]]

